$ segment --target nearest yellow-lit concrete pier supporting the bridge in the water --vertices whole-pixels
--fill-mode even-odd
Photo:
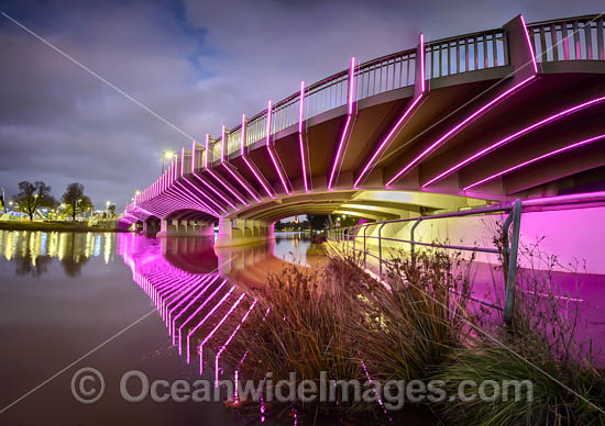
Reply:
[[[215,247],[233,247],[273,238],[273,224],[243,218],[221,218]]]

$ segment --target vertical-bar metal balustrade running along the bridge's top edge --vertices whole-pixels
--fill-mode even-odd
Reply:
[[[580,16],[528,25],[530,41],[539,61],[605,60],[603,16]],[[561,43],[559,43],[561,42]],[[554,47],[553,47],[554,46]],[[571,46],[571,48],[570,48]],[[355,69],[355,100],[414,85],[416,49],[407,49],[361,64]],[[428,42],[425,45],[425,78],[433,79],[508,65],[507,34],[488,30]],[[305,88],[304,120],[346,104],[349,70],[337,72]],[[272,107],[271,134],[298,124],[300,92]],[[246,124],[245,146],[266,138],[267,111]],[[239,152],[241,125],[228,133],[226,155]],[[215,160],[220,146],[215,145]]]

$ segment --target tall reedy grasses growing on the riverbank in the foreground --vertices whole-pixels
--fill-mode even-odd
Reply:
[[[522,291],[505,325],[502,312],[471,301],[472,262],[443,251],[415,260],[402,255],[384,281],[360,259],[333,250],[322,268],[287,267],[253,294],[260,309],[241,326],[227,360],[240,379],[272,372],[276,383],[294,372],[298,385],[326,372],[327,380],[362,383],[438,381],[448,395],[406,401],[395,411],[380,399],[352,402],[341,393],[331,402],[297,400],[275,408],[278,416],[296,413],[299,424],[405,424],[414,417],[427,425],[605,425],[604,372],[590,347],[576,341],[578,313],[561,307],[548,271],[519,272]],[[517,394],[493,386],[512,380],[531,386]],[[491,386],[477,397],[468,394],[476,388],[464,388],[466,381]],[[258,415],[249,408],[238,410]]]

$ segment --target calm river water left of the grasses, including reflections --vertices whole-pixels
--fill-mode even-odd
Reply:
[[[240,424],[221,403],[146,399],[135,404],[121,399],[120,378],[129,370],[143,371],[150,381],[187,379],[193,383],[199,378],[195,350],[188,365],[168,335],[170,326],[193,325],[184,325],[190,312],[167,325],[157,313],[166,305],[147,294],[148,289],[166,287],[167,281],[178,283],[183,291],[173,294],[174,303],[168,306],[176,316],[177,307],[185,310],[191,303],[193,310],[205,301],[197,291],[202,284],[218,300],[221,282],[226,282],[223,290],[232,282],[257,285],[285,261],[312,265],[316,260],[307,257],[309,247],[309,242],[296,235],[264,246],[215,253],[211,242],[204,238],[0,231],[0,411],[4,410],[0,424]],[[216,300],[208,305],[216,305]],[[224,306],[233,300],[226,299]],[[82,367],[96,368],[106,381],[103,396],[91,405],[75,401],[70,391],[72,377]],[[204,378],[213,378],[211,367],[205,369]]]

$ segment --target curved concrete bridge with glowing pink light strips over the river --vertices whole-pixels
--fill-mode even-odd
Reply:
[[[297,214],[388,221],[603,191],[603,15],[519,15],[351,58],[182,148],[122,221],[161,236],[210,236],[218,222],[220,247],[271,237],[275,221]],[[581,209],[566,214],[582,221]]]

